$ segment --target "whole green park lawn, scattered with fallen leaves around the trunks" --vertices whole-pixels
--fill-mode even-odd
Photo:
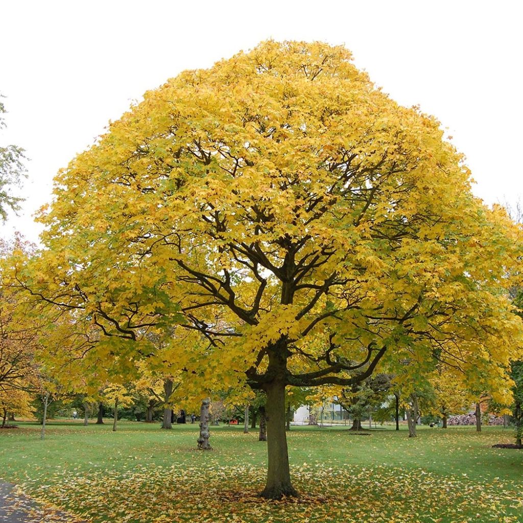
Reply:
[[[0,477],[84,519],[114,523],[523,522],[523,452],[493,449],[512,431],[485,427],[373,430],[292,427],[297,499],[265,502],[266,444],[242,427],[50,424],[0,431]]]

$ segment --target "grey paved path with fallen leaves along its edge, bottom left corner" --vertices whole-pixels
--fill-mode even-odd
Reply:
[[[0,523],[81,523],[81,520],[42,507],[20,494],[16,485],[0,481]]]

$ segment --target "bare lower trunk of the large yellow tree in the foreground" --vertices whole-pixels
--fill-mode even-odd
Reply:
[[[270,358],[270,356],[269,356]],[[276,356],[279,359],[279,356]],[[275,358],[275,359],[276,359]],[[283,363],[283,366],[281,365]],[[279,365],[278,365],[279,364]],[[269,360],[269,368],[271,367]],[[276,363],[278,374],[285,368],[285,362]],[[285,434],[285,383],[272,381],[265,386],[267,393],[267,483],[260,496],[267,499],[281,499],[282,496],[295,496],[297,492],[291,484],[289,453]]]

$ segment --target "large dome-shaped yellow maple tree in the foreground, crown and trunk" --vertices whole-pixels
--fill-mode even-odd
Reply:
[[[267,393],[268,498],[295,494],[287,385],[405,360],[472,379],[520,354],[519,230],[472,196],[439,122],[343,47],[267,41],[147,92],[56,177],[40,220],[45,249],[16,271],[35,297],[137,357],[140,333],[177,324],[197,333],[180,369]]]

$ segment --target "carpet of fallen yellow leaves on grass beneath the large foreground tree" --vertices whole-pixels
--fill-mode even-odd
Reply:
[[[29,480],[22,487],[36,488],[41,501],[93,522],[516,523],[523,513],[523,485],[504,488],[497,481],[477,483],[424,470],[321,463],[293,467],[292,474],[300,496],[272,502],[257,496],[263,469],[224,468],[212,457],[204,468],[138,465],[123,473],[64,472],[47,485]]]

